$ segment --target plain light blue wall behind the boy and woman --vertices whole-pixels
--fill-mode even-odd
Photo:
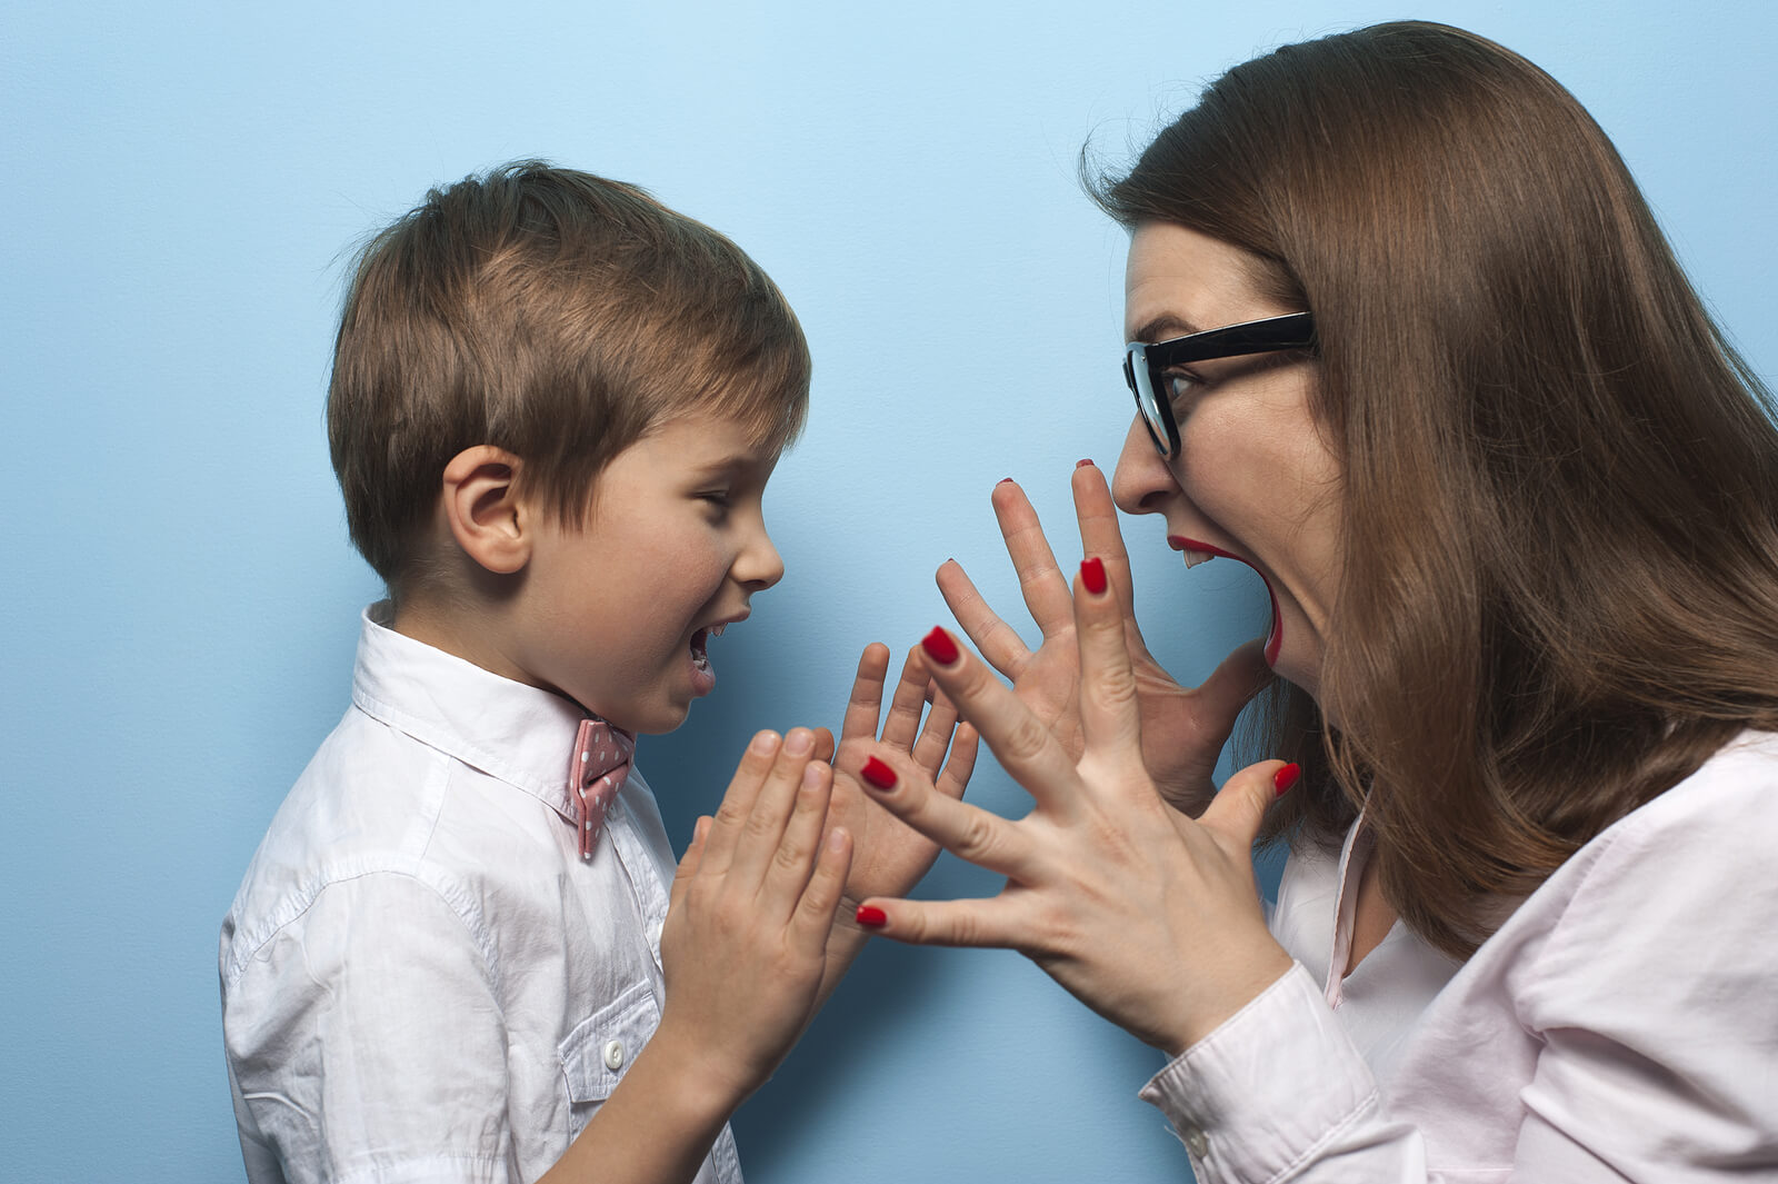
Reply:
[[[1076,553],[1111,462],[1122,236],[1079,196],[1195,84],[1396,4],[12,0],[0,34],[0,1179],[231,1180],[215,932],[345,702],[357,608],[322,391],[345,245],[521,155],[729,231],[816,356],[768,512],[789,578],[722,690],[644,748],[676,841],[756,727],[837,722],[852,661],[944,619],[955,555],[1017,604],[987,494]],[[1764,4],[1426,4],[1616,137],[1753,364],[1778,368]],[[1262,628],[1239,571],[1133,526],[1157,651]],[[1021,811],[996,770],[978,802]],[[990,892],[941,864],[928,891]],[[444,1035],[448,1038],[448,1033]],[[1156,1058],[1013,955],[875,948],[736,1127],[756,1180],[1177,1180]]]

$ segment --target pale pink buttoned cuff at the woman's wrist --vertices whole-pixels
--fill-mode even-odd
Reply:
[[[1173,1124],[1200,1180],[1277,1180],[1374,1111],[1376,1081],[1298,962],[1138,1097]]]

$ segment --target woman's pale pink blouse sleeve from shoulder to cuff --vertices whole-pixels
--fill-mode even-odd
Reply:
[[[1778,1164],[1771,768],[1751,770],[1764,784],[1657,798],[1575,855],[1561,903],[1527,901],[1549,919],[1515,930],[1524,956],[1476,1001],[1499,1012],[1472,1031],[1511,1029],[1538,1051],[1529,1077],[1506,1083],[1522,1108],[1504,1132],[1510,1163],[1478,1164],[1476,1179],[1726,1184]],[[1486,1038],[1470,1047],[1454,1074],[1497,1072]],[[1438,1136],[1403,1116],[1424,1099],[1390,1113],[1300,964],[1141,1097],[1172,1120],[1202,1184],[1424,1184],[1426,1138]]]

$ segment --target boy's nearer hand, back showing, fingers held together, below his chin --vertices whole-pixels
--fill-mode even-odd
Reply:
[[[820,1006],[852,836],[827,825],[832,768],[814,747],[804,727],[754,736],[672,882],[656,1040],[690,1052],[727,1109],[772,1076]]]

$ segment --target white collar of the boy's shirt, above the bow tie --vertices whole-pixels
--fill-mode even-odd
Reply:
[[[585,709],[396,633],[391,619],[389,601],[363,613],[352,702],[576,821],[565,770]]]

